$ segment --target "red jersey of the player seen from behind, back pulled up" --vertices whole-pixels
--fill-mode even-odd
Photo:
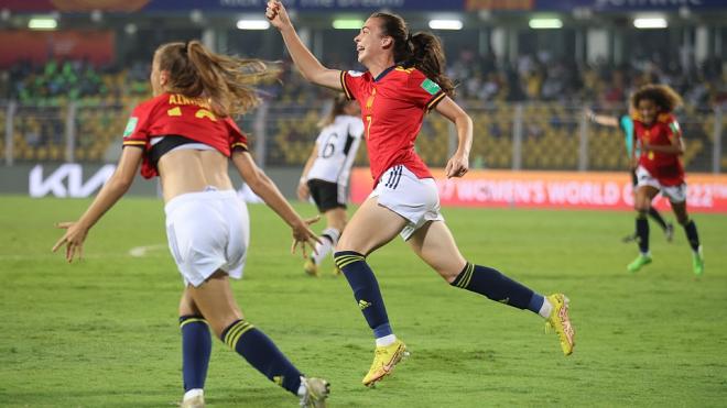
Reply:
[[[141,175],[158,176],[151,163],[150,152],[153,137],[180,135],[215,147],[229,157],[235,147],[247,150],[247,137],[232,119],[217,118],[209,103],[200,98],[187,98],[178,93],[162,93],[139,103],[123,131],[124,146],[144,150]]]

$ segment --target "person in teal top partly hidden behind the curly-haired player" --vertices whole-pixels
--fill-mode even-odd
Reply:
[[[640,148],[638,146],[638,143],[634,143],[634,136],[633,136],[633,118],[629,113],[622,113],[619,114],[618,117],[611,117],[608,114],[597,114],[590,109],[586,111],[586,114],[588,117],[588,120],[590,120],[594,123],[600,124],[601,126],[609,126],[609,128],[618,128],[623,132],[623,144],[626,145],[626,154],[627,157],[629,158],[629,174],[631,175],[631,184],[633,186],[633,194],[636,194],[637,190],[637,176],[636,176],[636,169],[637,166],[639,165],[639,156],[641,155]],[[637,144],[637,146],[634,146]],[[657,210],[654,207],[649,208],[649,217],[651,217],[654,222],[661,227],[661,229],[664,231],[664,235],[666,235],[666,241],[672,242],[674,239],[674,224],[671,222],[666,222],[663,217],[661,217],[661,213],[659,210]],[[626,235],[623,238],[623,242],[629,243],[633,242],[637,239],[637,233],[636,231]]]

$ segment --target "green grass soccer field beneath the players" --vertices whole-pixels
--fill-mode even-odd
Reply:
[[[169,407],[181,399],[176,307],[182,283],[165,245],[163,205],[126,198],[91,230],[85,261],[51,246],[56,221],[87,200],[0,200],[0,406]],[[543,294],[571,298],[575,353],[525,311],[446,285],[401,240],[369,257],[411,356],[375,389],[360,381],[373,340],[346,279],[289,254],[290,231],[250,206],[245,278],[253,324],[304,373],[332,383],[332,407],[724,406],[727,397],[727,217],[696,214],[706,273],[692,274],[677,228],[652,227],[654,263],[620,239],[627,212],[444,209],[464,255]],[[304,214],[311,206],[300,205]],[[673,221],[673,217],[669,214]],[[317,228],[321,230],[321,227]],[[132,256],[130,250],[145,246]],[[297,400],[215,342],[209,407]]]

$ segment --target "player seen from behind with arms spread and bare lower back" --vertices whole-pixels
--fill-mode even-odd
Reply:
[[[204,384],[211,351],[208,326],[228,346],[286,390],[301,405],[322,407],[328,385],[304,377],[262,331],[243,320],[228,275],[239,278],[249,232],[247,216],[227,174],[228,157],[250,186],[293,229],[294,246],[315,244],[306,221],[252,162],[245,135],[230,119],[258,103],[248,85],[273,77],[258,60],[211,53],[199,42],[160,46],[152,62],[154,98],[139,104],[123,134],[117,170],[77,222],[59,224],[66,258],[80,257],[88,230],[141,174],[159,176],[166,212],[170,251],[185,283],[180,301],[183,379],[182,407],[204,407]]]

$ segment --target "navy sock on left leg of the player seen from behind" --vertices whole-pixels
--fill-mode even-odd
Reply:
[[[204,388],[211,353],[211,334],[202,316],[180,317],[182,330],[182,379],[184,390]]]

